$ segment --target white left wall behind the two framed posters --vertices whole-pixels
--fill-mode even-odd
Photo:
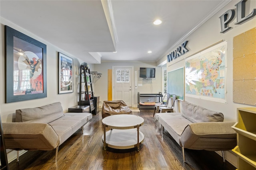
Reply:
[[[36,35],[22,29],[18,25],[11,23],[4,18],[0,18],[0,115],[2,122],[12,122],[15,121],[15,110],[22,109],[27,107],[38,107],[44,106],[46,104],[51,104],[53,102],[61,102],[64,112],[68,111],[68,107],[72,107],[77,105],[78,103],[78,95],[79,84],[77,73],[79,73],[80,63],[84,62],[78,60],[76,57],[70,55],[68,52],[60,49],[47,41],[45,41],[42,37],[37,37]],[[27,100],[22,102],[14,102],[14,103],[5,103],[5,43],[4,43],[4,25],[8,25],[17,31],[20,31],[44,44],[46,44],[47,48],[47,98],[41,98],[36,100]],[[73,79],[74,79],[74,92],[67,94],[58,94],[58,52],[61,52],[68,57],[73,58]],[[85,59],[86,61],[86,59]],[[90,64],[90,68],[94,69],[93,64]],[[78,70],[77,70],[78,69]],[[77,88],[78,87],[78,88]],[[16,152],[7,150],[8,161],[14,160],[16,158]]]

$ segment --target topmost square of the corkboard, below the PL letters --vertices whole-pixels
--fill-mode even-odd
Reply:
[[[233,58],[250,55],[256,52],[256,27],[233,39]]]

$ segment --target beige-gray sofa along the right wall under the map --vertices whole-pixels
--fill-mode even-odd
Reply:
[[[232,129],[235,122],[223,122],[222,113],[212,111],[186,101],[182,102],[181,113],[156,113],[156,120],[170,133],[173,139],[184,148],[195,150],[222,151],[236,146],[236,131]]]

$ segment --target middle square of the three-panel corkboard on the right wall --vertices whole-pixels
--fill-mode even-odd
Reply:
[[[233,60],[234,80],[255,80],[256,78],[256,53]]]

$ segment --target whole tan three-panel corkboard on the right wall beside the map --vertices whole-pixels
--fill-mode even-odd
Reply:
[[[233,101],[256,106],[256,27],[233,39]]]

